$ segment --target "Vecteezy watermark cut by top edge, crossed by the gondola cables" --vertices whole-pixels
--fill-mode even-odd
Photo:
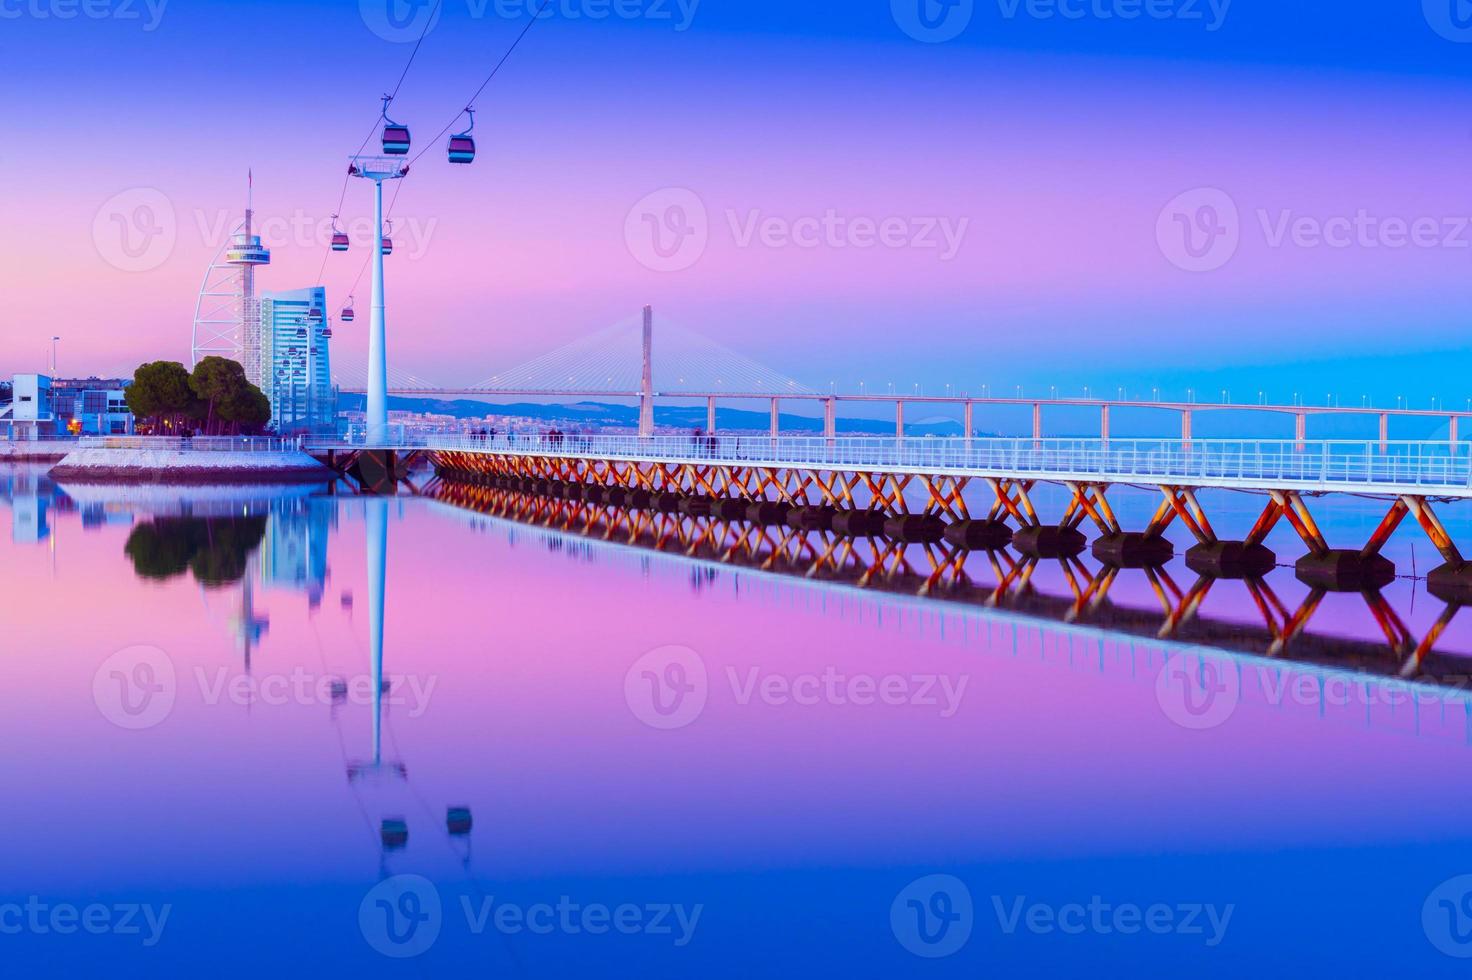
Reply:
[[[358,13],[383,40],[412,44],[439,26],[446,6],[442,0],[358,0]],[[684,32],[701,0],[464,0],[464,7],[473,21],[654,21]]]

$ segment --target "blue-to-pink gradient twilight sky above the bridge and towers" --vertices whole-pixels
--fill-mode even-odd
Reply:
[[[392,212],[397,377],[473,384],[649,303],[824,390],[1462,405],[1459,3],[549,0],[452,166],[431,137],[527,0],[427,34],[433,0],[0,0],[0,374],[52,335],[63,375],[187,361],[247,171],[259,288],[362,313],[344,168],[402,74],[430,152]]]

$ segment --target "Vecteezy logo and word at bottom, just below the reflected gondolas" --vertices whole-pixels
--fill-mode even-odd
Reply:
[[[704,905],[671,902],[577,902],[561,895],[555,902],[503,902],[487,895],[462,895],[459,909],[471,936],[493,931],[502,936],[654,936],[683,948],[695,937]],[[384,878],[358,906],[364,939],[384,956],[405,959],[427,952],[446,926],[439,889],[417,874]]]

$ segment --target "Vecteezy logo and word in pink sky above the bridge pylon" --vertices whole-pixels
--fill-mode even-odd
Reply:
[[[727,209],[724,225],[737,249],[916,250],[941,262],[960,255],[970,218],[944,215],[846,215],[835,207],[813,215],[770,215],[760,207]],[[689,269],[711,241],[711,216],[699,194],[667,187],[640,199],[624,216],[629,253],[655,272]]]

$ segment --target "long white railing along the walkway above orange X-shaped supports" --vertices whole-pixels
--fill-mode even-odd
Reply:
[[[355,447],[361,441],[309,441]],[[422,436],[383,449],[659,462],[799,465],[1189,486],[1350,486],[1472,496],[1469,447],[1447,441]]]

